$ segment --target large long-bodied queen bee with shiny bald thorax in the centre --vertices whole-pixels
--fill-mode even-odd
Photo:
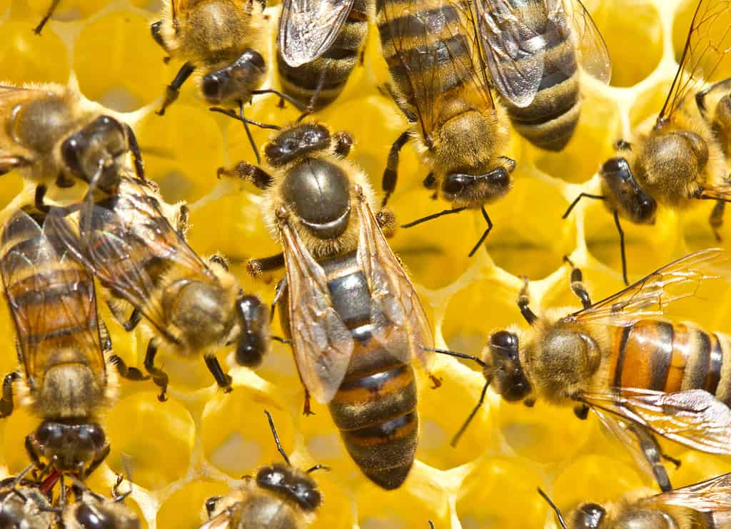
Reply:
[[[420,345],[433,339],[382,233],[393,218],[374,216],[367,176],[343,159],[352,141],[321,123],[299,123],[266,145],[272,175],[245,162],[236,169],[265,190],[265,220],[284,249],[249,268],[287,269],[274,302],[306,399],[329,404],[355,463],[390,490],[406,479],[417,446],[412,357],[428,368],[433,355]]]

